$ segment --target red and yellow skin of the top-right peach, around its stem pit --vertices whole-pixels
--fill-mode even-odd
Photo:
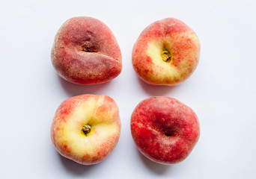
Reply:
[[[171,54],[162,60],[162,51]],[[185,81],[198,65],[200,43],[195,32],[178,19],[162,19],[141,32],[132,49],[132,65],[148,84],[173,86]]]

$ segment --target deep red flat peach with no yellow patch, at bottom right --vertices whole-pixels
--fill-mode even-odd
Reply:
[[[141,101],[132,113],[131,132],[141,154],[162,164],[183,161],[200,135],[193,110],[171,97]]]

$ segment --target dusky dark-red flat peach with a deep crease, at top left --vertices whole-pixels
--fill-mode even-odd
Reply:
[[[121,50],[100,20],[73,17],[59,29],[52,46],[52,65],[74,84],[101,84],[121,73]]]

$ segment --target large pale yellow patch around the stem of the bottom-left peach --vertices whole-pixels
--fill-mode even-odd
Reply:
[[[61,122],[61,131],[55,136],[56,142],[70,147],[70,153],[82,158],[85,154],[97,156],[99,145],[112,139],[110,136],[118,136],[120,127],[113,120],[117,111],[110,110],[105,115],[95,113],[97,107],[103,105],[104,95],[99,98],[88,98],[76,107],[66,122]],[[102,119],[108,119],[102,120]],[[82,133],[84,125],[91,125],[88,136]]]

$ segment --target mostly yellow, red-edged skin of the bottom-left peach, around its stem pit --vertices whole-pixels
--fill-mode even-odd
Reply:
[[[85,135],[84,125],[91,126]],[[121,132],[119,110],[107,95],[78,95],[64,101],[55,113],[51,137],[64,157],[91,165],[100,163],[115,148]]]

